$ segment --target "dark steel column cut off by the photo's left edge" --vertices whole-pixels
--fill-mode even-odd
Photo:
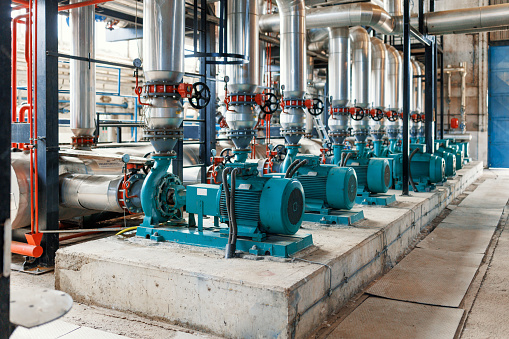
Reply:
[[[10,218],[11,187],[11,2],[0,1],[0,164],[3,169],[0,176],[0,339],[9,338],[9,271],[10,267],[10,229],[5,227]],[[6,251],[7,250],[7,251]]]

